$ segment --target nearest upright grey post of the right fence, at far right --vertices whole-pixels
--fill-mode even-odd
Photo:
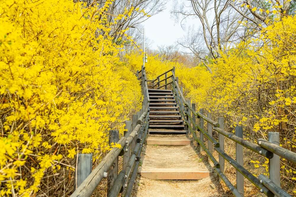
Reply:
[[[268,141],[279,146],[279,132],[268,132]],[[274,154],[274,157],[269,159],[269,179],[281,186],[279,155]]]

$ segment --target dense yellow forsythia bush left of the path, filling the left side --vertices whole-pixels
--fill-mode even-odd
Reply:
[[[108,36],[110,4],[1,1],[0,196],[51,195],[65,181],[71,192],[75,154],[100,159],[108,130],[140,108],[139,82]]]

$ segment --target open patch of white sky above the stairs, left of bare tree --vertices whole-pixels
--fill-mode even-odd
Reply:
[[[157,49],[157,46],[161,45],[175,44],[185,34],[180,22],[175,23],[174,19],[170,17],[172,6],[173,0],[168,0],[163,12],[150,17],[142,24],[145,28],[146,37],[151,41],[149,47],[152,49]],[[190,22],[193,23],[193,21]]]

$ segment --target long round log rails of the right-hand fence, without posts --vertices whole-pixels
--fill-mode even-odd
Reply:
[[[214,145],[215,145],[215,142],[217,142],[217,141],[211,135],[209,135],[200,125],[195,123],[195,121],[192,118],[193,115],[195,115],[197,118],[207,121],[208,129],[209,129],[209,124],[210,124],[211,127],[213,127],[213,130],[217,131],[219,133],[219,135],[226,136],[227,138],[236,142],[236,144],[239,144],[238,146],[244,146],[247,149],[250,149],[250,150],[252,150],[252,151],[268,158],[268,159],[273,159],[274,154],[276,154],[282,158],[287,159],[288,161],[296,163],[296,153],[295,152],[284,149],[283,147],[273,144],[270,141],[266,141],[264,139],[258,139],[258,141],[257,141],[258,145],[254,144],[250,141],[247,141],[247,140],[239,137],[239,135],[236,136],[232,133],[225,131],[223,129],[223,127],[219,128],[220,124],[218,122],[213,121],[211,118],[206,117],[205,115],[203,115],[200,112],[196,112],[186,102],[186,100],[181,92],[181,89],[178,85],[174,71],[172,71],[172,73],[173,73],[172,74],[173,75],[173,81],[172,81],[173,86],[172,87],[173,87],[173,91],[175,93],[175,97],[176,97],[175,99],[176,99],[176,102],[180,108],[180,113],[182,115],[182,118],[184,119],[185,124],[187,125],[188,130],[190,130],[192,132],[193,139],[195,141],[197,141],[198,144],[200,144],[200,146],[202,147],[202,150],[204,150],[206,152],[209,159],[213,162],[213,164],[215,165],[215,167],[214,167],[215,171],[218,173],[221,180],[223,180],[224,183],[226,183],[227,187],[231,190],[231,192],[234,194],[234,196],[241,196],[241,194],[239,193],[239,190],[234,188],[234,186],[229,182],[229,180],[226,178],[226,176],[223,174],[223,172],[219,169],[219,167],[220,167],[219,163],[213,157],[213,154],[210,152],[210,150],[204,145],[203,140],[197,138],[196,132],[199,131],[200,135],[201,135],[201,133],[203,133],[206,136],[206,138],[208,140],[210,140],[211,143],[214,143]],[[186,109],[189,109],[189,110],[186,110]],[[192,116],[191,116],[191,112],[192,112]],[[209,116],[209,117],[211,117],[211,116]],[[194,128],[197,128],[197,130],[192,128],[191,123]],[[222,121],[222,123],[223,123],[223,121]],[[221,138],[221,139],[223,139],[223,138]],[[219,136],[219,140],[220,140],[220,136]],[[222,142],[222,143],[224,143],[224,142]],[[224,149],[222,150],[219,147],[219,142],[216,143],[216,145],[215,145],[215,147],[213,147],[213,149],[216,152],[218,152],[218,154],[221,155],[223,159],[227,160],[237,170],[237,172],[239,172],[239,174],[242,174],[245,178],[250,180],[253,185],[255,185],[257,188],[259,188],[261,193],[264,193],[266,196],[274,196],[274,195],[285,196],[285,197],[290,196],[287,192],[285,192],[282,188],[277,186],[272,180],[266,178],[265,176],[263,177],[263,175],[260,175],[258,178],[256,178],[254,175],[252,175],[251,172],[249,172],[248,170],[246,170],[243,167],[243,163],[239,163],[239,162],[235,161],[234,159],[232,159],[229,155],[227,155],[224,152]],[[219,160],[220,160],[220,157],[219,157]],[[274,168],[274,169],[276,169],[276,168]],[[279,166],[278,166],[278,169],[279,169]],[[239,182],[237,182],[237,184],[238,183]],[[241,184],[243,184],[243,182],[241,182]]]

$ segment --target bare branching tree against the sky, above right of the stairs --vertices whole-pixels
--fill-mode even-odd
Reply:
[[[187,37],[179,40],[178,43],[200,58],[205,66],[208,63],[205,56],[218,58],[221,53],[227,51],[234,40],[244,33],[244,27],[239,23],[244,16],[230,7],[231,1],[183,0],[175,2],[172,14],[176,19],[181,19],[182,23],[188,18],[197,18],[201,26],[198,31],[194,31],[193,27],[188,28]],[[247,8],[244,9],[242,12],[247,12]],[[207,68],[210,71],[208,66]]]

